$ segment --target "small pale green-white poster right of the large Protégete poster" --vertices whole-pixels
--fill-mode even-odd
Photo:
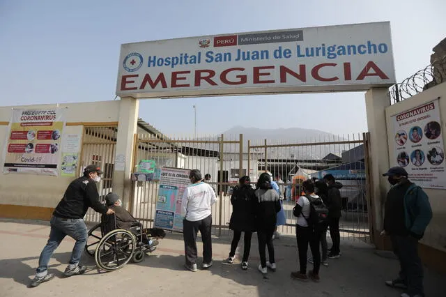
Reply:
[[[76,176],[79,165],[81,135],[66,134],[63,136],[61,176]]]

